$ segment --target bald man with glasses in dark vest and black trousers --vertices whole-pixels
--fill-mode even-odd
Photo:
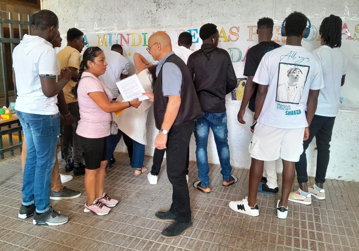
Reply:
[[[192,228],[190,195],[186,181],[186,157],[194,120],[202,117],[201,106],[186,64],[172,51],[171,38],[155,32],[147,51],[159,61],[153,95],[154,116],[159,133],[155,147],[165,149],[167,176],[173,187],[172,205],[167,212],[157,212],[161,221],[173,221],[161,235],[173,238]]]

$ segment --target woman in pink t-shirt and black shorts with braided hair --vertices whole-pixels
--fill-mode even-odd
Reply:
[[[103,191],[106,175],[106,137],[110,135],[111,112],[117,112],[133,106],[137,108],[141,101],[134,99],[120,103],[112,101],[112,94],[98,79],[106,71],[106,60],[99,47],[89,47],[80,64],[79,78],[73,89],[79,101],[80,121],[76,129],[83,148],[86,165],[85,189],[87,202],[84,212],[98,215],[108,214],[118,200],[111,199]]]

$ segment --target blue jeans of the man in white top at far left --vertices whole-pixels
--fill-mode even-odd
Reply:
[[[50,186],[57,140],[60,136],[60,113],[39,115],[16,111],[24,131],[27,156],[23,173],[23,202],[35,203],[36,212],[50,208]]]

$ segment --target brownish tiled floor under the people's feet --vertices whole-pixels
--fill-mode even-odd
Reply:
[[[0,162],[0,250],[359,250],[359,183],[328,180],[324,201],[313,199],[309,206],[290,202],[284,220],[275,210],[280,195],[258,194],[260,216],[251,217],[228,208],[230,200],[247,194],[248,170],[234,169],[239,181],[225,188],[220,167],[211,165],[213,190],[205,195],[191,187],[197,179],[195,162],[190,163],[189,182],[192,231],[164,239],[160,232],[169,223],[157,221],[154,213],[167,210],[171,203],[165,161],[159,183],[151,186],[147,173],[134,176],[128,157],[120,153],[105,181],[106,192],[121,200],[111,214],[83,212],[84,177],[78,176],[66,185],[83,192],[81,197],[51,202],[70,221],[58,227],[34,226],[32,219],[17,218],[22,172],[16,152]],[[146,157],[145,165],[150,168],[151,163]],[[62,160],[60,167],[64,172]]]

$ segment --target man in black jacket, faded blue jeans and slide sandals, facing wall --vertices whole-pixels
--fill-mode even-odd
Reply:
[[[230,175],[232,167],[229,162],[225,108],[225,95],[236,87],[237,78],[228,52],[217,47],[219,32],[216,25],[203,25],[200,29],[200,38],[203,41],[201,49],[192,53],[187,62],[191,76],[194,77],[203,115],[195,122],[196,159],[200,180],[193,186],[204,193],[209,193],[211,191],[207,158],[209,128],[212,129],[222,167],[222,185],[229,186],[238,181],[237,177]]]

